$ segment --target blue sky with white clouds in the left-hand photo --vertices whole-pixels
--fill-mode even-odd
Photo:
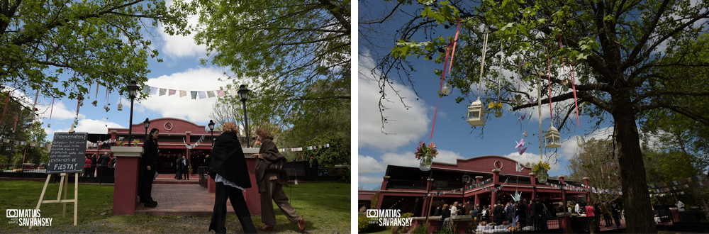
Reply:
[[[191,23],[196,21],[196,16],[190,19]],[[152,40],[151,47],[159,50],[159,57],[164,59],[164,62],[157,62],[156,59],[148,58],[147,68],[151,72],[147,74],[148,81],[145,84],[165,89],[210,91],[218,90],[231,82],[224,74],[228,69],[199,65],[199,60],[206,58],[206,47],[196,45],[192,35],[170,36],[160,27],[150,29],[150,33],[143,33],[143,36]],[[219,81],[220,78],[223,81]],[[29,102],[32,103],[35,98],[34,93],[26,95],[28,95],[26,99],[31,99]],[[128,128],[130,116],[128,97],[123,96],[121,99],[117,92],[113,92],[106,99],[106,87],[100,87],[96,99],[95,84],[91,87],[88,96],[90,99],[84,100],[84,105],[79,108],[79,124],[75,128],[77,132],[107,133],[108,128]],[[123,104],[123,111],[117,110],[119,99]],[[94,100],[98,101],[96,106],[91,105],[91,101]],[[174,117],[206,126],[210,120],[212,106],[217,100],[217,98],[192,100],[189,98],[189,93],[182,98],[179,98],[179,95],[150,96],[140,102],[135,101],[133,123],[142,123],[145,118]],[[52,139],[55,132],[69,130],[74,117],[77,116],[77,100],[56,99],[53,111],[50,110],[51,103],[51,98],[40,96],[38,100],[38,108],[44,121],[43,127],[48,133],[48,140]],[[104,105],[107,104],[111,104],[108,112],[104,110]],[[50,128],[48,123],[51,123]]]

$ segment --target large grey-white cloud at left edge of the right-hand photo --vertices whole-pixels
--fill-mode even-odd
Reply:
[[[396,147],[401,147],[415,141],[420,135],[428,131],[428,123],[430,118],[426,113],[429,113],[428,106],[423,101],[416,100],[414,92],[401,84],[391,84],[393,89],[396,89],[399,94],[406,99],[405,107],[401,104],[398,96],[394,96],[394,90],[391,87],[386,88],[387,98],[384,100],[386,105],[384,118],[388,123],[381,129],[381,115],[379,110],[379,87],[375,82],[379,80],[376,75],[371,73],[374,62],[369,57],[359,56],[359,140],[358,147],[373,147],[379,150],[393,150]],[[376,71],[379,74],[379,71]],[[384,134],[382,133],[391,133]]]

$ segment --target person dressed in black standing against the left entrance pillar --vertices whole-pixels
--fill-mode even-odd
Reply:
[[[138,196],[140,203],[145,207],[157,206],[157,201],[152,199],[152,180],[155,179],[157,169],[157,135],[160,130],[152,128],[150,134],[143,141],[143,157],[140,158],[140,168],[138,169]]]

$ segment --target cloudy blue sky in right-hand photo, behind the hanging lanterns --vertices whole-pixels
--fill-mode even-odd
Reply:
[[[362,21],[362,5],[360,5],[360,21]],[[385,9],[382,6],[376,6],[378,9]],[[406,9],[405,9],[406,10]],[[401,14],[403,15],[403,14]],[[393,32],[401,27],[404,23],[403,18],[410,16],[394,17],[391,21],[387,21],[386,26],[382,27],[380,32]],[[408,18],[406,18],[408,19]],[[442,26],[437,28],[435,33],[448,36],[454,35],[455,29],[444,29]],[[421,36],[421,35],[419,35]],[[540,140],[539,140],[539,115],[537,108],[526,108],[523,111],[527,112],[527,120],[523,121],[523,130],[527,131],[527,151],[523,155],[519,155],[515,149],[515,141],[522,138],[523,130],[520,129],[520,116],[523,111],[511,112],[508,111],[510,106],[504,106],[505,112],[501,118],[490,116],[484,126],[481,128],[472,129],[471,126],[463,119],[467,112],[467,106],[477,94],[471,95],[471,99],[462,101],[457,104],[454,99],[460,95],[460,90],[454,88],[450,96],[445,96],[438,100],[437,91],[440,87],[440,76],[433,74],[433,69],[442,69],[442,64],[435,64],[432,61],[414,60],[413,67],[417,72],[412,72],[412,81],[415,83],[415,89],[419,96],[416,96],[411,89],[406,85],[398,82],[398,77],[390,77],[395,84],[394,89],[399,91],[406,106],[404,107],[398,97],[393,96],[393,91],[386,91],[389,99],[392,102],[386,104],[384,116],[389,120],[384,124],[384,132],[393,133],[385,134],[382,132],[381,116],[377,106],[379,101],[379,87],[376,80],[379,79],[378,74],[371,74],[371,69],[374,67],[371,54],[384,54],[388,49],[393,47],[396,39],[393,35],[379,34],[381,38],[379,44],[381,50],[376,52],[368,51],[363,45],[359,45],[359,79],[358,79],[358,144],[357,144],[357,160],[358,160],[358,186],[364,189],[378,188],[382,181],[382,176],[386,170],[386,165],[401,165],[408,167],[418,167],[418,160],[415,160],[413,152],[415,151],[418,142],[434,142],[440,150],[440,154],[434,159],[434,162],[449,162],[454,163],[457,158],[464,159],[481,155],[502,155],[510,157],[513,160],[525,162],[539,162],[540,160]],[[388,38],[388,39],[387,39]],[[421,38],[414,40],[424,41]],[[362,41],[362,40],[360,40]],[[509,56],[508,56],[509,57]],[[497,60],[486,60],[485,69],[498,69]],[[566,69],[568,71],[568,68]],[[377,70],[375,73],[379,73]],[[505,71],[506,77],[513,76],[512,72]],[[396,76],[396,72],[391,72]],[[545,85],[542,82],[542,85]],[[532,96],[537,96],[536,88],[533,89]],[[560,91],[560,90],[559,90]],[[436,104],[438,102],[438,111],[435,119],[435,128],[433,137],[429,140],[431,127],[435,113]],[[488,103],[484,103],[487,106]],[[529,119],[529,113],[532,113],[532,118]],[[542,130],[547,130],[550,125],[549,104],[542,104]],[[601,123],[599,129],[591,123],[591,118],[580,115],[581,126],[576,126],[576,118],[572,121],[574,126],[570,130],[560,129],[562,134],[562,147],[556,149],[544,149],[544,159],[547,160],[555,152],[555,156],[549,161],[552,169],[549,175],[556,176],[559,174],[568,174],[566,165],[573,157],[574,152],[578,149],[576,136],[583,135],[583,138],[605,139],[612,133],[611,120],[605,120]],[[569,123],[567,122],[567,126]],[[556,126],[559,128],[559,126]],[[482,134],[481,134],[482,133]],[[532,135],[535,134],[535,135]]]

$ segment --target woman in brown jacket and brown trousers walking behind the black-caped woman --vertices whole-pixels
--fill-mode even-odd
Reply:
[[[281,208],[291,223],[297,223],[299,232],[306,228],[306,221],[298,216],[296,209],[288,203],[288,197],[283,191],[283,185],[288,184],[288,173],[285,168],[274,169],[274,165],[282,163],[285,167],[286,158],[278,152],[273,143],[273,135],[266,128],[256,130],[257,141],[261,143],[259,153],[252,155],[256,160],[256,184],[261,194],[261,222],[264,226],[259,230],[273,230],[276,225],[276,215],[273,213],[273,202]],[[281,162],[279,162],[281,161]]]

